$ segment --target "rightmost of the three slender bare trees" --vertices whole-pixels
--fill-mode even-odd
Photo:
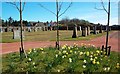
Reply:
[[[106,54],[107,54],[107,48],[108,48],[108,35],[109,35],[109,24],[110,24],[110,0],[108,2],[108,10],[105,8],[105,5],[103,3],[103,1],[101,0],[101,5],[102,5],[102,8],[96,8],[97,10],[104,10],[107,15],[108,15],[108,22],[107,22],[107,34],[106,34],[106,45],[105,45],[105,49],[106,49]]]

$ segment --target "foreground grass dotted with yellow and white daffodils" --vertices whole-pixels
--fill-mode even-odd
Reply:
[[[27,51],[27,58],[20,60],[19,53],[2,56],[3,72],[120,72],[120,53],[104,51],[94,45],[81,47],[64,45],[56,48],[34,48]]]

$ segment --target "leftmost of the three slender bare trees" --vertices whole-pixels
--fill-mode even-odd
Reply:
[[[22,23],[22,12],[25,8],[25,2],[22,2],[22,0],[19,0],[19,6],[18,6],[18,2],[14,1],[14,2],[7,2],[11,5],[13,5],[18,11],[19,11],[19,15],[20,15],[20,40],[21,40],[21,47],[20,47],[20,55],[21,54],[25,54],[26,58],[27,58],[27,54],[24,50],[24,47],[23,47],[23,33],[22,33],[22,30],[23,30],[23,23]]]

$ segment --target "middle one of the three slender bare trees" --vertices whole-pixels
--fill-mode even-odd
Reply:
[[[56,48],[59,50],[59,26],[58,26],[58,21],[59,21],[59,17],[61,17],[63,14],[66,13],[66,11],[71,7],[72,5],[72,0],[70,2],[70,4],[68,5],[68,7],[63,11],[61,12],[61,9],[62,9],[62,5],[63,5],[63,2],[59,2],[59,0],[56,0],[56,13],[49,10],[48,8],[44,7],[42,4],[39,4],[42,8],[46,9],[47,11],[51,12],[53,15],[56,16],[56,21],[57,21],[57,39],[56,39]],[[61,13],[60,13],[61,12]]]

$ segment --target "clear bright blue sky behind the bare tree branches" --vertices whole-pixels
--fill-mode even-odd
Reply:
[[[2,4],[2,19],[8,20],[9,17],[12,17],[14,20],[19,20],[18,10],[11,4],[6,2]],[[56,21],[56,17],[51,12],[42,8],[39,4],[42,4],[47,9],[52,12],[56,12],[55,2],[26,2],[24,11],[23,11],[23,20],[27,21]],[[60,14],[68,7],[70,2],[63,2],[62,9]],[[120,4],[120,3],[119,3]],[[107,2],[104,2],[105,7],[107,8]],[[68,17],[84,19],[91,23],[101,23],[103,25],[107,24],[107,13],[103,10],[96,10],[97,8],[102,8],[100,2],[73,2],[72,6],[68,11],[63,14],[59,20],[62,18]],[[110,25],[118,24],[118,2],[111,2],[111,16],[110,16]]]

